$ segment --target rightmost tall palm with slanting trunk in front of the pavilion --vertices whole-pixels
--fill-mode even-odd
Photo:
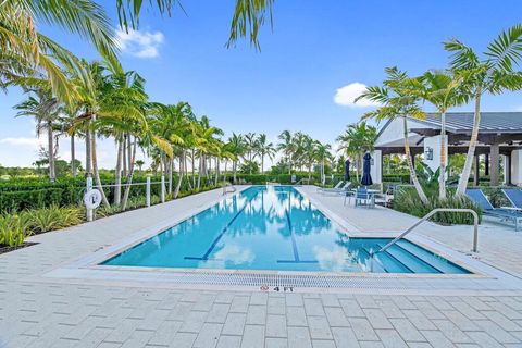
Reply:
[[[498,35],[487,46],[484,58],[458,39],[445,42],[444,48],[451,52],[450,69],[464,79],[470,99],[474,99],[473,129],[471,132],[464,169],[459,179],[457,195],[463,195],[471,174],[481,124],[481,99],[485,92],[498,95],[504,90],[522,88],[522,73],[514,66],[522,59],[522,25],[515,25]]]

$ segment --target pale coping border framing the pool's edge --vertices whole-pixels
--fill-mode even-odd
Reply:
[[[179,286],[179,282],[176,278],[182,276],[186,277],[188,283],[182,284],[189,286],[190,276],[201,277],[208,276],[209,284],[194,284],[195,286],[209,286],[213,288],[215,284],[212,284],[212,277],[247,277],[250,276],[252,279],[257,277],[266,277],[266,283],[277,283],[277,277],[316,277],[318,279],[396,279],[402,285],[402,287],[408,288],[408,282],[412,281],[422,281],[425,282],[477,282],[477,281],[501,281],[502,284],[511,284],[512,289],[522,289],[522,279],[504,272],[499,269],[496,269],[489,264],[481,262],[476,259],[473,259],[471,254],[464,254],[462,252],[452,250],[449,247],[442,245],[438,241],[435,241],[431,238],[423,237],[420,235],[412,235],[406,238],[407,240],[414,243],[426,250],[434,252],[440,257],[444,257],[450,262],[472,272],[471,274],[402,274],[402,273],[362,273],[362,272],[307,272],[307,271],[273,271],[273,270],[223,270],[223,269],[187,269],[187,268],[147,268],[147,266],[114,266],[114,265],[101,265],[99,263],[107,261],[114,256],[121,253],[124,250],[130,249],[134,246],[158,235],[159,233],[175,226],[183,221],[190,219],[191,216],[213,207],[223,199],[239,195],[241,191],[259,185],[248,185],[243,186],[236,192],[232,195],[223,195],[215,199],[210,200],[209,202],[188,209],[184,212],[182,216],[175,219],[166,219],[161,221],[158,224],[154,224],[148,228],[145,228],[138,233],[134,233],[123,240],[115,243],[108,247],[100,247],[95,252],[91,252],[87,256],[84,256],[71,263],[67,263],[61,268],[54,269],[50,272],[47,272],[42,277],[48,278],[75,278],[75,279],[98,279],[98,281],[108,281],[108,282],[139,282],[139,279],[147,279],[148,282],[154,282],[154,279],[161,284],[169,283],[169,278],[172,279],[173,286]],[[287,185],[291,186],[291,185]],[[351,225],[346,219],[343,219],[332,212],[322,202],[318,201],[306,191],[301,190],[299,186],[293,186],[299,194],[310,200],[310,202],[315,206],[318,210],[321,211],[327,219],[332,221],[343,233],[346,233],[349,237],[361,237],[361,238],[389,238],[395,237],[397,233],[372,233],[372,232],[361,232]],[[199,279],[199,278],[198,278]],[[222,279],[220,279],[221,282]],[[201,282],[199,279],[198,282]],[[257,282],[257,281],[254,281]],[[272,282],[272,283],[271,283]],[[214,282],[215,283],[215,282]],[[344,284],[344,283],[343,283]],[[150,285],[150,283],[148,283]],[[448,289],[449,284],[439,284],[442,289]],[[452,284],[453,287],[459,288],[458,284]],[[203,286],[203,287],[204,287]],[[433,285],[432,285],[433,286]],[[489,287],[495,286],[489,284]],[[219,287],[219,286],[217,286]],[[191,288],[191,287],[190,287]],[[303,287],[303,288],[315,288],[315,287]],[[323,288],[323,287],[321,287]],[[436,287],[435,287],[436,288]],[[337,288],[338,289],[338,288]]]

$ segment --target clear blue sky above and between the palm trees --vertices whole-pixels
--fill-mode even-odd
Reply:
[[[114,1],[101,2],[116,24]],[[122,62],[147,79],[151,100],[188,101],[227,136],[266,133],[272,141],[290,129],[334,142],[371,108],[336,103],[337,89],[351,86],[344,89],[349,97],[355,83],[380,84],[385,66],[412,75],[445,67],[442,41],[458,37],[481,51],[501,29],[520,23],[522,10],[520,0],[276,0],[274,28],[262,29],[262,50],[256,52],[245,40],[225,48],[234,2],[183,0],[187,14],[176,10],[172,17],[149,11],[139,33],[123,38]],[[42,30],[76,54],[96,59],[77,37]],[[522,110],[521,96],[487,96],[483,110]],[[36,159],[34,123],[14,119],[12,110],[22,99],[17,89],[0,95],[2,165],[30,165]],[[64,159],[66,144],[60,148]],[[112,141],[101,142],[102,166],[113,166],[113,149]],[[78,151],[82,157],[82,146]]]

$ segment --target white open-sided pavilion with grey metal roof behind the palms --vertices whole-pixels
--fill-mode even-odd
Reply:
[[[473,113],[455,112],[446,114],[446,158],[453,153],[468,153],[468,145],[473,127]],[[427,114],[424,120],[408,119],[408,139],[410,151],[423,154],[423,161],[432,170],[440,165],[440,117]],[[382,157],[405,153],[405,135],[402,120],[390,120],[380,129],[372,177],[382,182]],[[475,149],[474,181],[478,181],[478,159],[485,157],[485,175],[490,176],[490,184],[500,184],[500,162],[505,169],[502,183],[522,185],[522,112],[482,112],[478,130],[478,144]],[[502,158],[502,161],[500,161]]]

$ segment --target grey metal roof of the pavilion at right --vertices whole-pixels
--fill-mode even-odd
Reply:
[[[440,115],[426,114],[425,120],[415,120],[433,129],[440,129]],[[472,112],[449,112],[446,114],[446,130],[453,134],[470,134],[473,127]],[[522,133],[522,112],[481,112],[478,133]]]

